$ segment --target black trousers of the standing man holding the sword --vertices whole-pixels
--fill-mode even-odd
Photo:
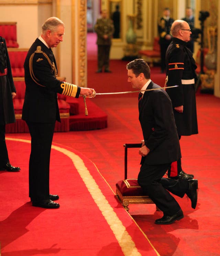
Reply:
[[[49,199],[50,155],[55,123],[27,122],[31,134],[29,196],[32,201]]]

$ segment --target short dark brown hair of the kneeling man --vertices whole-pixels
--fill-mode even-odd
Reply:
[[[144,74],[146,79],[151,78],[151,70],[146,61],[142,59],[135,59],[126,65],[127,70],[132,70],[137,77],[141,73]]]

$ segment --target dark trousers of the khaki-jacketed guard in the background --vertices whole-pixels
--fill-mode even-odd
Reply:
[[[98,69],[104,66],[105,70],[109,70],[109,54],[111,45],[98,45]]]

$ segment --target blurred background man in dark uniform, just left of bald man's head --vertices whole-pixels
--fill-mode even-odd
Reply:
[[[169,17],[170,10],[165,8],[163,11],[163,17],[158,22],[159,44],[161,46],[161,72],[166,70],[166,50],[172,41],[172,35],[170,34],[170,28],[173,23],[173,19]]]

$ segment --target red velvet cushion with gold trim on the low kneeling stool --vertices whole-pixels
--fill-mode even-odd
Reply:
[[[141,186],[137,183],[137,179],[120,180],[116,183],[116,187],[122,196],[143,196]]]

